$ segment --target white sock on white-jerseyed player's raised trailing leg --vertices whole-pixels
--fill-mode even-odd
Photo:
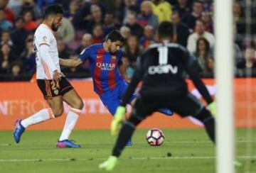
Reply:
[[[55,118],[53,115],[53,111],[51,110],[51,108],[44,108],[41,111],[38,111],[37,113],[33,114],[33,116],[30,116],[22,120],[21,125],[23,125],[24,128],[27,128],[29,125],[41,123],[50,118]]]

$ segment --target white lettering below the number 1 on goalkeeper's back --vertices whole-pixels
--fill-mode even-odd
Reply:
[[[172,74],[176,74],[178,72],[177,66],[172,65],[156,65],[149,67],[149,74],[167,74],[171,72]]]

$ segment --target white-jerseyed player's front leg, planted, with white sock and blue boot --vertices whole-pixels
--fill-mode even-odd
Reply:
[[[63,95],[63,101],[65,101],[68,105],[71,106],[70,111],[68,111],[68,115],[65,121],[65,125],[63,128],[63,132],[60,135],[60,139],[56,144],[57,147],[80,147],[72,141],[68,140],[70,133],[72,132],[75,124],[78,121],[80,113],[82,111],[83,103],[80,96],[78,96],[75,89],[68,91]]]

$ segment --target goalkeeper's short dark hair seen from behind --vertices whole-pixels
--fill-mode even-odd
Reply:
[[[173,38],[174,25],[169,21],[163,21],[158,28],[159,38]]]

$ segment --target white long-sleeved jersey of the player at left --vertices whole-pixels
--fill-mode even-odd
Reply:
[[[49,67],[49,63],[60,72],[57,41],[53,35],[53,31],[45,24],[41,24],[36,29],[33,42],[36,52],[36,79],[53,79],[53,72]],[[46,58],[45,52],[41,52],[40,45],[49,46],[48,53],[50,59]]]

